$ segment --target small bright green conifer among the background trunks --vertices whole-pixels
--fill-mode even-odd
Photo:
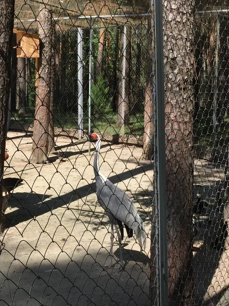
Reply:
[[[98,119],[112,112],[109,87],[106,85],[102,73],[99,74],[97,82],[92,84],[91,99],[93,118]]]

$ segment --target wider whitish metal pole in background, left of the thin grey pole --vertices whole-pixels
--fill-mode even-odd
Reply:
[[[78,137],[82,138],[82,29],[78,28]]]

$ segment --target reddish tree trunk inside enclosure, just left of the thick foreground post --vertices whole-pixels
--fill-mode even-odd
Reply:
[[[148,59],[147,59],[147,80],[146,80],[146,91],[145,91],[145,108],[144,108],[144,137],[143,137],[143,152],[142,159],[151,160],[154,153],[154,101],[153,101],[153,87],[154,84],[153,75],[155,71],[155,62],[153,61],[153,45],[154,42],[154,29],[152,29],[151,18],[148,21]],[[153,73],[152,73],[153,71]]]

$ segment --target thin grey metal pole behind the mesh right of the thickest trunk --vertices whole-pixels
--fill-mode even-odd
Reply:
[[[215,140],[216,140],[216,108],[217,108],[217,87],[218,87],[218,54],[219,54],[219,16],[216,18],[216,49],[215,49],[215,70],[214,70],[214,97],[213,97],[213,157],[215,155]]]

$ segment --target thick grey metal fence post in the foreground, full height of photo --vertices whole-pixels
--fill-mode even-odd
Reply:
[[[156,105],[157,105],[157,191],[159,208],[159,271],[160,305],[168,304],[167,285],[167,211],[165,170],[165,100],[163,57],[162,0],[154,1],[155,52],[156,52]]]

